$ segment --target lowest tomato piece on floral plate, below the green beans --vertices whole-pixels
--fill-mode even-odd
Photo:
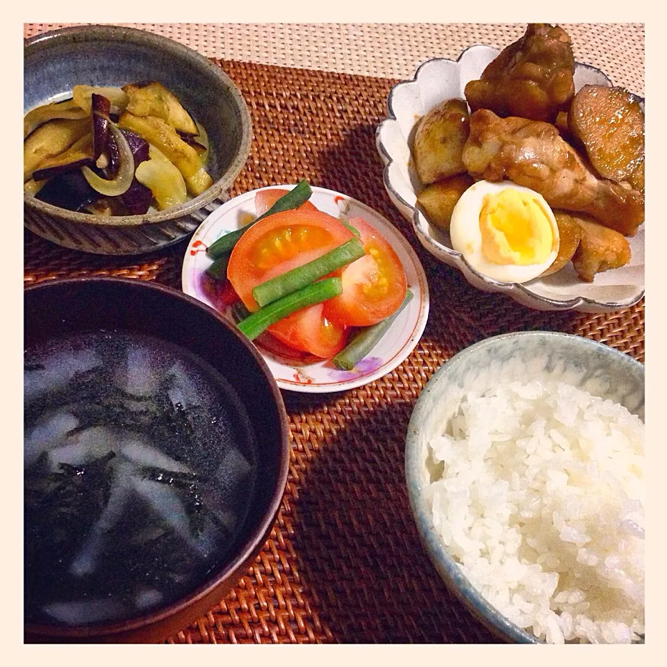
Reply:
[[[293,349],[329,359],[345,347],[349,332],[341,324],[329,322],[323,310],[324,304],[309,306],[276,322],[269,331]]]

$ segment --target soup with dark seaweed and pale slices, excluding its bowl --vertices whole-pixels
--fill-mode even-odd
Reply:
[[[254,493],[254,434],[227,381],[119,332],[28,350],[24,370],[26,619],[131,618],[201,583]]]

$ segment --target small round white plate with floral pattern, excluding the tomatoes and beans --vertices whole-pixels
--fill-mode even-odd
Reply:
[[[271,186],[290,190],[294,186]],[[270,189],[270,188],[262,188]],[[216,308],[231,318],[224,293],[206,275],[211,259],[206,248],[224,233],[239,229],[254,217],[258,190],[245,192],[217,208],[201,223],[190,239],[183,260],[183,292]],[[279,341],[263,334],[255,343],[281,389],[307,393],[329,393],[359,387],[391,372],[412,352],[429,315],[429,287],[420,261],[402,234],[372,208],[333,190],[313,188],[311,201],[320,211],[347,220],[361,216],[390,242],[405,270],[414,298],[403,309],[387,333],[352,371],[338,370],[330,359],[295,356]]]

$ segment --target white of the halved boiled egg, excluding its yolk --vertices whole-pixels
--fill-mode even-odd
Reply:
[[[532,195],[540,201],[549,222],[551,223],[554,238],[557,242],[554,244],[547,259],[538,264],[495,264],[488,261],[481,249],[481,231],[479,230],[479,213],[484,205],[486,195],[497,194],[501,190],[516,190]],[[456,202],[454,211],[452,211],[452,221],[450,222],[450,237],[452,238],[452,248],[460,252],[466,261],[479,273],[507,283],[525,283],[538,277],[545,272],[553,263],[558,255],[558,225],[556,218],[550,206],[542,195],[530,188],[517,186],[511,181],[502,181],[500,183],[491,183],[489,181],[478,181],[468,190],[463,192],[461,199]]]

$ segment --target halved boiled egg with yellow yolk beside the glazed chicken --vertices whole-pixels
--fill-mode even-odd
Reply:
[[[479,273],[525,283],[554,263],[559,235],[544,197],[511,181],[478,181],[452,212],[452,247]]]

